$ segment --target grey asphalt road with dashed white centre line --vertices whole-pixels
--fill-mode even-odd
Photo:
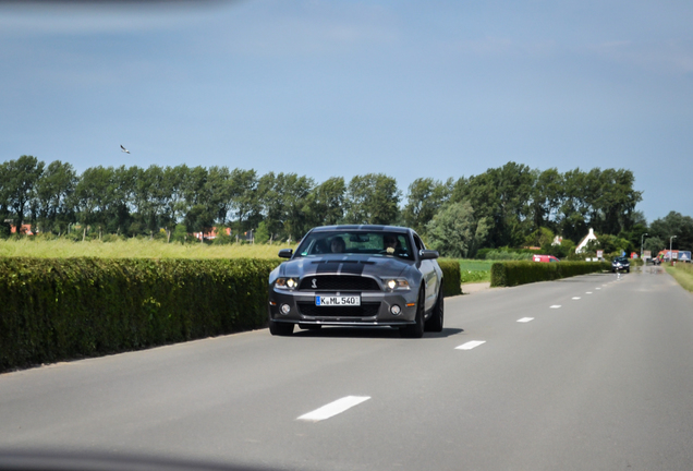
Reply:
[[[423,339],[257,330],[9,373],[0,448],[690,471],[693,295],[666,274],[589,275],[449,298],[445,330]]]

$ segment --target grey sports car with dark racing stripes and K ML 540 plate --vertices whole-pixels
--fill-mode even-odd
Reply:
[[[442,270],[412,229],[312,229],[269,275],[269,331],[324,325],[399,327],[403,337],[442,330]]]

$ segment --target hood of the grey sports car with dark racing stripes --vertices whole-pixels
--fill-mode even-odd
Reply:
[[[307,256],[284,262],[278,276],[303,278],[314,275],[363,275],[399,277],[414,264],[413,261],[373,255]]]

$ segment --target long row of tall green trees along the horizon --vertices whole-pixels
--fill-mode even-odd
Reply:
[[[80,224],[99,237],[163,229],[170,238],[183,226],[189,232],[224,226],[235,234],[254,230],[256,240],[292,241],[315,226],[399,225],[446,254],[472,256],[481,247],[540,244],[547,231],[578,242],[588,228],[640,247],[641,234],[654,229],[635,210],[642,192],[633,185],[625,169],[561,173],[511,161],[457,180],[418,178],[403,195],[382,173],[323,182],[217,166],[98,166],[77,173],[68,162],[21,156],[0,165],[0,217],[3,234],[17,221],[57,235]]]

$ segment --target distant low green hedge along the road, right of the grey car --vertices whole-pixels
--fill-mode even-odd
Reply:
[[[503,262],[491,265],[491,287],[509,287],[610,270],[606,262]]]

